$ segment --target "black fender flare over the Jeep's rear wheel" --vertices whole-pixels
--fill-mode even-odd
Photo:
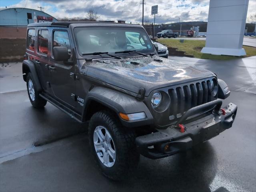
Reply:
[[[22,62],[22,73],[23,73],[23,80],[26,81],[26,77],[28,75],[28,70],[29,72],[31,72],[33,79],[34,79],[34,83],[35,83],[35,89],[36,91],[40,92],[42,91],[42,86],[40,84],[40,80],[38,78],[38,73],[36,71],[36,67],[34,62],[30,61],[30,60],[24,60]]]

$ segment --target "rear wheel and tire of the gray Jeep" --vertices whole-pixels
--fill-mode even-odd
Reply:
[[[34,78],[30,72],[28,73],[26,82],[28,97],[32,106],[35,108],[43,108],[46,105],[47,101],[39,96],[39,92],[37,91]]]

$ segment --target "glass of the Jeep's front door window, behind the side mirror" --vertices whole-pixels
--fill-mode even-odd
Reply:
[[[53,47],[65,46],[68,48],[68,54],[71,53],[70,40],[67,31],[53,32]]]

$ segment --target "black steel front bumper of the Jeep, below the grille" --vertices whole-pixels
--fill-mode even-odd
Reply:
[[[137,137],[138,151],[143,156],[158,159],[188,150],[196,144],[217,136],[232,126],[237,111],[237,106],[233,103],[223,108],[225,112],[220,110],[220,106],[221,104],[208,116],[184,124],[184,132],[181,132],[178,126],[170,126],[164,130]],[[198,107],[200,108],[200,106],[192,108],[190,112],[198,111]],[[189,110],[186,113],[188,112]]]

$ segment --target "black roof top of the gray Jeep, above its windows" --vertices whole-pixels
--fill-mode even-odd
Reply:
[[[72,26],[122,26],[122,27],[142,27],[138,24],[114,23],[114,22],[100,22],[100,21],[58,21],[58,22],[44,22],[44,23],[31,23],[28,27],[33,26],[57,26],[68,27]]]

